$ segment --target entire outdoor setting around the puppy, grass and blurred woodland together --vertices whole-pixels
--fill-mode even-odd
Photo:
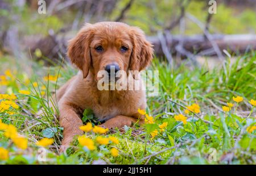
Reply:
[[[0,0],[0,120],[29,142],[20,152],[0,131],[0,149],[10,152],[1,161],[0,150],[0,164],[40,164],[35,144],[43,137],[55,139],[51,164],[256,164],[255,12],[256,0]],[[148,69],[159,71],[159,94],[147,97],[146,111],[156,123],[115,133],[121,157],[105,147],[59,156],[63,128],[49,101],[77,74],[67,41],[85,22],[101,21],[138,26],[154,45]],[[200,114],[186,113],[196,105]],[[159,151],[166,152],[152,155]]]

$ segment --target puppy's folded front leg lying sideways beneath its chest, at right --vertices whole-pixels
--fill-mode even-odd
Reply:
[[[137,121],[138,119],[131,118],[129,116],[118,115],[112,119],[107,120],[105,123],[101,124],[101,126],[109,129],[115,128],[115,127],[122,128],[125,125],[128,127],[131,127],[131,125]],[[142,124],[142,123],[143,123],[143,120],[140,119],[139,124]]]

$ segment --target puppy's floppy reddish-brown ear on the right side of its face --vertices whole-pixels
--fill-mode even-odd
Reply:
[[[131,52],[129,69],[141,72],[150,64],[153,58],[153,45],[146,40],[144,32],[138,27],[131,27],[130,37],[133,43],[133,51]],[[133,75],[133,78],[138,79],[138,75]]]

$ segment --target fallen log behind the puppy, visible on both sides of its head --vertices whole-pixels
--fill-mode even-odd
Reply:
[[[27,45],[27,51],[28,48],[31,48],[32,53],[38,48],[43,56],[49,58],[51,61],[57,62],[58,60],[60,61],[59,55],[67,56],[67,41],[72,37],[73,36],[68,35],[63,36],[63,33],[55,33],[40,40],[33,37],[30,41],[25,40],[23,45]],[[162,37],[164,37],[164,39]],[[148,36],[147,40],[154,45],[156,57],[168,56],[168,53],[170,53],[168,60],[171,60],[171,54],[176,55],[177,53],[180,53],[181,57],[192,58],[192,60],[197,56],[217,55],[216,49],[213,49],[209,40],[204,39],[204,35],[180,36],[167,35],[167,33],[165,33],[165,35],[160,35],[160,39],[159,35],[157,35]],[[211,35],[211,40],[216,43],[220,51],[225,49],[230,55],[246,53],[250,51],[250,49],[256,50],[256,35],[214,34]],[[179,45],[180,43],[183,43],[182,47]]]

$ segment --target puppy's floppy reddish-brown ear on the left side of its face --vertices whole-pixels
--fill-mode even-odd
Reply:
[[[84,78],[88,76],[90,68],[90,42],[94,32],[92,26],[86,23],[79,33],[68,41],[68,57],[82,70]]]

